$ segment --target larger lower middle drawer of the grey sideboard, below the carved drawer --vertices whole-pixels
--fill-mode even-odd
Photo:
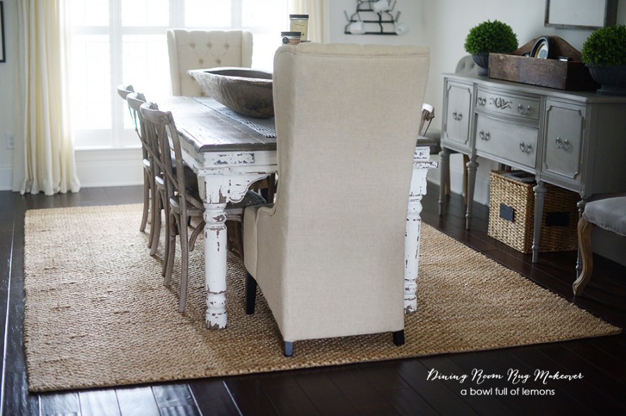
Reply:
[[[476,151],[533,168],[539,129],[476,115]]]

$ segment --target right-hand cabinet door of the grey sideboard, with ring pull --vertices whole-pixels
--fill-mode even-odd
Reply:
[[[572,185],[580,183],[584,125],[584,106],[546,100],[543,174]]]

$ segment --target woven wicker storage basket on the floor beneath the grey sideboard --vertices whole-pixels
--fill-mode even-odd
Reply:
[[[492,171],[490,174],[488,235],[522,253],[531,253],[535,194],[533,176],[524,172]],[[569,251],[578,247],[580,200],[576,192],[548,188],[543,203],[539,251]]]

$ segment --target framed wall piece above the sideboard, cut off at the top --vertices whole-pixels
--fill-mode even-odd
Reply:
[[[593,30],[613,26],[618,0],[545,0],[545,26]]]

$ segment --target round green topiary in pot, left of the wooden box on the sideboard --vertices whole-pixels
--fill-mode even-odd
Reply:
[[[499,20],[482,22],[470,29],[465,38],[465,51],[474,58],[476,65],[483,70],[479,75],[487,75],[489,53],[508,53],[517,49],[517,35],[511,26]]]

